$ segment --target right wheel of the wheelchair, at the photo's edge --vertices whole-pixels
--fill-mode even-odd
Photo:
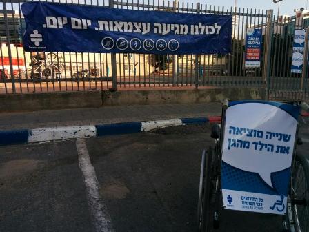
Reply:
[[[290,231],[309,231],[309,157],[297,154],[292,168],[288,218]]]

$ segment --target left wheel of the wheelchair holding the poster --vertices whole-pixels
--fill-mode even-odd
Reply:
[[[198,231],[206,232],[210,229],[210,197],[211,197],[211,164],[212,148],[203,151],[201,157],[201,175],[199,180],[199,202],[197,205]]]

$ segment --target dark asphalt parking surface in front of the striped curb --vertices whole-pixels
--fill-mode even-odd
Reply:
[[[0,147],[0,231],[196,231],[210,144],[206,125]],[[218,232],[281,229],[277,215],[223,211]]]

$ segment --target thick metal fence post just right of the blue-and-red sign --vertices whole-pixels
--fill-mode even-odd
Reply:
[[[265,85],[265,98],[269,99],[269,89],[270,89],[270,60],[272,52],[272,18],[274,15],[273,10],[268,10],[267,12],[267,23],[266,23],[266,47],[263,62],[263,79]]]

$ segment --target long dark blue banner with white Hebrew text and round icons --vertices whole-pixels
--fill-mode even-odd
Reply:
[[[216,54],[231,49],[230,15],[46,2],[23,3],[21,9],[23,47],[29,52]]]

